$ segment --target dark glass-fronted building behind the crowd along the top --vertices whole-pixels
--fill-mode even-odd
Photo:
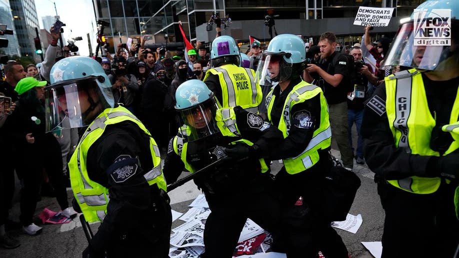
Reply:
[[[110,22],[104,34],[114,39],[114,44],[126,42],[127,37],[140,38],[143,34],[154,35],[156,43],[182,41],[178,29],[178,21],[182,22],[183,30],[191,41],[196,39],[211,41],[215,32],[205,35],[205,23],[214,9],[220,17],[229,14],[232,19],[230,28],[222,32],[235,39],[248,40],[248,34],[265,37],[264,16],[267,9],[278,14],[277,30],[292,33],[318,36],[317,24],[325,24],[330,30],[339,32],[343,38],[362,34],[362,27],[346,29],[342,24],[350,22],[357,13],[363,0],[93,0],[96,18]],[[407,16],[423,0],[371,0],[369,6],[395,7],[394,16]],[[282,19],[288,19],[286,28],[280,28]],[[315,22],[314,22],[315,20]],[[394,19],[395,20],[395,19]],[[240,21],[240,22],[239,22]],[[319,22],[319,23],[317,23]],[[346,22],[346,23],[343,23]],[[396,30],[398,18],[390,27],[375,31]],[[204,25],[203,25],[204,24]],[[295,26],[295,24],[298,24]],[[331,25],[330,25],[331,24]],[[295,30],[295,28],[297,28]],[[298,31],[301,28],[302,31]],[[317,29],[310,29],[317,28]],[[394,29],[395,28],[395,29]],[[279,31],[280,30],[280,31]],[[293,32],[294,31],[294,32]],[[299,32],[299,33],[298,33]],[[318,33],[318,34],[317,34]],[[167,39],[164,36],[167,34]],[[213,34],[213,35],[212,35]],[[337,33],[338,34],[338,33]],[[205,35],[205,36],[202,36]],[[118,39],[120,38],[120,40]],[[113,40],[112,39],[112,40]]]

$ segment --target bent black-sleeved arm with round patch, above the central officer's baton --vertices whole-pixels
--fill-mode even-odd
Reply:
[[[240,136],[253,142],[253,145],[234,144],[225,148],[231,157],[268,158],[270,150],[275,148],[283,138],[282,132],[275,126],[263,122],[261,116],[248,112],[240,106],[233,108]]]

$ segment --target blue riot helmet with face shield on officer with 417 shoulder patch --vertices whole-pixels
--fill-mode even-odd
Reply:
[[[255,79],[260,85],[299,77],[304,70],[306,50],[303,40],[293,34],[272,38],[261,54]]]

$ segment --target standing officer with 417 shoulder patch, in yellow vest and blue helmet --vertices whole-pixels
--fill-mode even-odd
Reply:
[[[331,168],[330,123],[320,87],[301,79],[305,65],[304,42],[296,35],[275,36],[261,55],[257,77],[261,85],[277,82],[266,97],[267,118],[284,139],[271,149],[270,158],[282,159],[275,178],[281,200],[281,237],[287,257],[347,257],[341,237],[331,228],[331,215],[323,212],[321,194]],[[292,218],[299,197],[307,205],[302,217]]]

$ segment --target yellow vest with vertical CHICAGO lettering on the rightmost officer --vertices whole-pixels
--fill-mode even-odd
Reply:
[[[422,75],[416,69],[397,72],[384,78],[386,92],[386,111],[395,147],[403,148],[407,153],[439,156],[440,153],[430,148],[430,134],[435,126],[427,104]],[[449,122],[457,122],[459,116],[459,92],[456,95]],[[451,143],[446,155],[459,145]],[[402,190],[427,194],[435,192],[440,186],[440,177],[409,176],[398,180],[388,180],[390,184]],[[449,180],[447,180],[449,182]]]

